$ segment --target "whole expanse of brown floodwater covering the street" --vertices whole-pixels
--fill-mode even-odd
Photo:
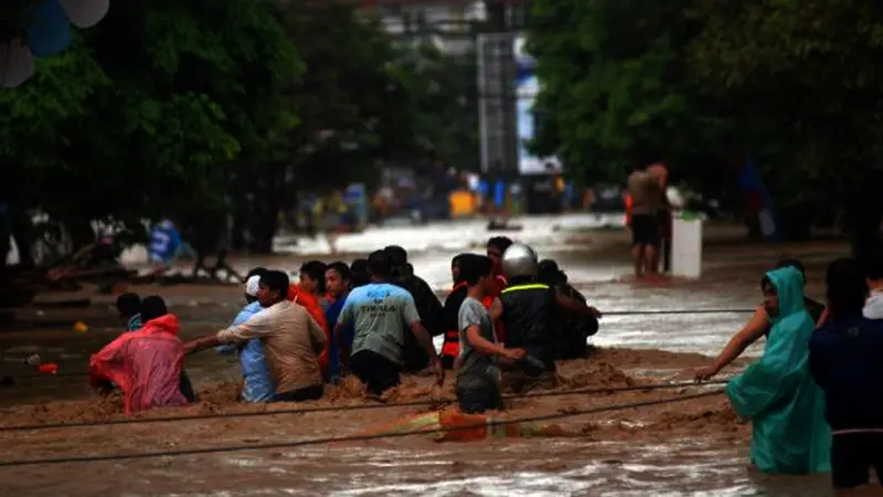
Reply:
[[[532,243],[540,256],[558,261],[575,286],[606,316],[592,342],[602,347],[586,361],[561,368],[555,391],[594,387],[626,388],[659,381],[687,380],[706,363],[748,317],[759,302],[757,285],[764,267],[780,255],[799,255],[819,279],[822,264],[842,246],[744,247],[714,245],[705,251],[701,282],[636,285],[621,279],[629,272],[626,236],[621,230],[584,232],[587,225],[616,226],[616,219],[533,218],[519,220],[523,230],[503,233]],[[594,224],[593,224],[594,223]],[[621,221],[619,221],[621,224]],[[428,228],[376,229],[333,242],[340,254],[328,255],[327,241],[307,243],[280,239],[289,255],[270,260],[241,258],[236,268],[279,265],[296,271],[309,258],[351,260],[389,244],[411,251],[415,272],[434,288],[450,285],[450,257],[481,251],[488,236],[482,223],[449,223]],[[715,242],[716,243],[716,242]],[[137,257],[137,255],[132,255]],[[234,287],[141,287],[141,295],[167,298],[170,311],[184,325],[183,336],[212,332],[228,324],[242,306]],[[809,293],[818,295],[818,286]],[[89,295],[88,309],[46,310],[42,320],[83,320],[89,330],[75,334],[68,326],[32,327],[0,332],[0,351],[23,355],[38,350],[60,363],[60,372],[81,372],[88,357],[118,332],[113,296]],[[714,314],[628,315],[629,311],[719,309]],[[732,311],[724,311],[731,309]],[[33,313],[25,310],[23,313]],[[24,316],[34,320],[32,315]],[[756,355],[763,345],[748,350]],[[744,364],[744,362],[742,363]],[[187,369],[198,389],[238,379],[235,358],[211,351],[188,358]],[[10,370],[7,374],[12,374]],[[427,379],[408,379],[395,401],[450,396],[453,379],[444,389]],[[114,417],[88,399],[83,377],[17,379],[0,387],[0,426]],[[714,387],[672,391],[624,391],[594,395],[562,395],[512,401],[506,415],[520,417],[567,413],[596,406],[677,398]],[[361,405],[370,401],[337,389],[319,405]],[[220,399],[220,400],[219,400]],[[224,398],[226,399],[226,398]],[[70,400],[63,403],[60,400]],[[54,401],[51,404],[46,404]],[[24,404],[35,406],[23,408]],[[278,404],[277,404],[278,405]],[[309,404],[307,404],[309,405]],[[283,406],[286,408],[286,406]],[[278,406],[267,410],[283,409]],[[187,408],[188,414],[238,412],[222,395]],[[287,409],[291,409],[287,406]],[[428,408],[429,410],[435,408]],[[827,475],[765,477],[746,470],[749,426],[738,423],[722,395],[629,409],[554,421],[568,433],[558,438],[491,440],[477,443],[436,443],[405,437],[345,444],[307,445],[160,457],[118,462],[2,467],[2,462],[36,457],[120,454],[289,442],[344,436],[427,412],[427,408],[390,408],[226,417],[200,421],[2,431],[0,427],[0,495],[29,496],[801,496],[831,495]],[[172,415],[169,412],[162,415]],[[88,476],[86,476],[88,475]]]

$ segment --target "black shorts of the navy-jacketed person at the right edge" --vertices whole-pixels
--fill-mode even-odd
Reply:
[[[855,488],[870,483],[871,468],[883,479],[883,433],[834,435],[831,476],[834,488]]]

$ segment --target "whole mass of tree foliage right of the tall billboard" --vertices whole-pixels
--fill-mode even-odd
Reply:
[[[530,47],[547,126],[533,147],[621,181],[664,159],[712,194],[754,157],[786,230],[836,215],[858,239],[883,207],[873,0],[535,0]]]

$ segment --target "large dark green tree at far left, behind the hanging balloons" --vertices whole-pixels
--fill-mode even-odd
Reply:
[[[94,236],[92,220],[219,223],[234,166],[266,161],[297,126],[283,92],[301,71],[270,2],[117,3],[33,82],[0,93],[3,198],[75,243]]]

